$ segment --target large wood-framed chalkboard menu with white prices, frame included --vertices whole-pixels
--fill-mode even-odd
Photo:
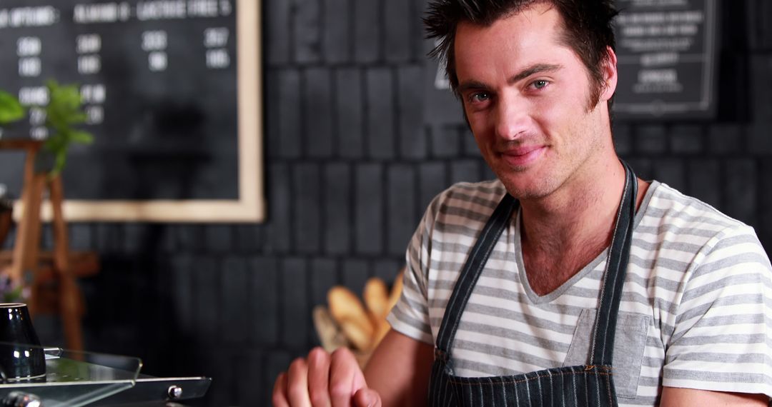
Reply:
[[[95,142],[63,172],[68,220],[262,220],[255,0],[3,0],[0,89],[42,140],[46,81],[79,86]],[[19,197],[22,153],[0,152]]]

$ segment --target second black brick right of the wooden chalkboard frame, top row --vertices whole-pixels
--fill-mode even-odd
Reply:
[[[321,59],[319,0],[293,0],[295,61],[301,64]]]

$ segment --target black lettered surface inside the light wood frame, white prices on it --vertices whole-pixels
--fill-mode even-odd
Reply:
[[[235,197],[235,187],[213,180],[237,177],[235,13],[232,0],[0,3],[0,89],[29,107],[29,121],[0,137],[45,140],[46,81],[75,83],[84,130],[96,140],[74,152],[82,170],[104,171],[107,161],[118,182],[134,186],[128,198]],[[140,165],[161,180],[191,173],[191,160],[198,162],[193,173],[208,174],[196,180],[200,187],[129,180]],[[13,180],[0,183],[16,189]],[[66,187],[77,197],[104,198],[104,189]],[[107,198],[124,194],[107,189]]]

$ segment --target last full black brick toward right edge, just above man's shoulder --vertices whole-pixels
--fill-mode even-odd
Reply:
[[[727,160],[723,203],[726,214],[747,224],[756,223],[757,168],[750,159]]]

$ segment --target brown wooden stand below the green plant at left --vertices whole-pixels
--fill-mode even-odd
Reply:
[[[29,311],[32,314],[56,312],[62,318],[66,347],[83,350],[80,320],[85,311],[83,293],[75,276],[95,274],[99,270],[97,255],[70,253],[67,225],[62,213],[64,193],[61,177],[48,179],[46,173],[36,173],[35,156],[42,142],[36,140],[0,140],[0,150],[25,150],[23,212],[16,229],[11,252],[0,252],[0,271],[16,283],[32,276]],[[52,206],[53,251],[40,251],[40,210],[45,190],[49,190]]]

